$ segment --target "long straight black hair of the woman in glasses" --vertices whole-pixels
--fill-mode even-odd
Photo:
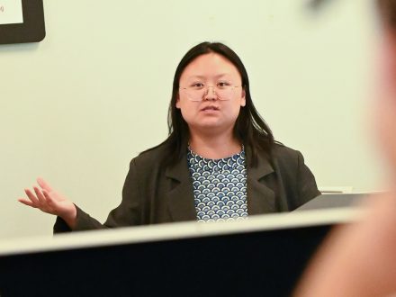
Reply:
[[[257,153],[260,150],[266,154],[266,157],[271,156],[271,150],[274,145],[274,136],[269,129],[266,121],[258,114],[255,105],[252,102],[249,89],[249,80],[247,71],[238,55],[229,49],[226,45],[220,42],[202,42],[192,49],[188,50],[175,71],[173,81],[172,98],[169,103],[167,113],[168,137],[160,145],[166,145],[165,163],[167,166],[172,166],[180,157],[183,157],[188,139],[190,137],[188,124],[184,121],[180,109],[176,108],[176,101],[179,94],[180,76],[193,59],[208,53],[217,53],[222,57],[227,58],[235,67],[237,67],[240,76],[242,77],[242,87],[246,94],[246,105],[239,111],[237,121],[234,126],[234,136],[241,141],[245,146],[248,146],[251,151],[251,158],[247,160],[249,166],[257,164]]]

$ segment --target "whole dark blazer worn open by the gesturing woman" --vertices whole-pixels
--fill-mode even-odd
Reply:
[[[245,149],[248,164],[251,151]],[[163,150],[159,146],[130,161],[121,204],[110,212],[104,224],[77,207],[74,230],[196,220],[187,158],[184,156],[172,167],[160,166]],[[257,166],[247,166],[248,215],[293,211],[320,194],[299,151],[275,145],[271,163],[259,155]],[[55,232],[70,230],[64,220],[57,219]]]

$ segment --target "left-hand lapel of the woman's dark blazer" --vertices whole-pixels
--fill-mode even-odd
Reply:
[[[172,219],[175,221],[196,220],[193,181],[185,155],[175,166],[166,168],[166,178],[169,179],[167,202]]]

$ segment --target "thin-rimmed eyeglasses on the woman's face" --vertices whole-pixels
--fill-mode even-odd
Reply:
[[[202,98],[209,93],[209,88],[213,94],[221,101],[231,100],[234,96],[234,90],[241,85],[230,85],[228,82],[219,82],[216,85],[206,85],[204,83],[193,83],[186,87],[180,87],[184,90],[188,100],[202,101]]]

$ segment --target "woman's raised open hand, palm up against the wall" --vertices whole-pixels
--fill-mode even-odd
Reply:
[[[38,208],[53,215],[61,217],[70,227],[76,222],[76,206],[64,195],[54,191],[42,178],[37,179],[40,185],[33,186],[33,192],[25,189],[27,198],[19,198],[18,201],[33,208]]]

